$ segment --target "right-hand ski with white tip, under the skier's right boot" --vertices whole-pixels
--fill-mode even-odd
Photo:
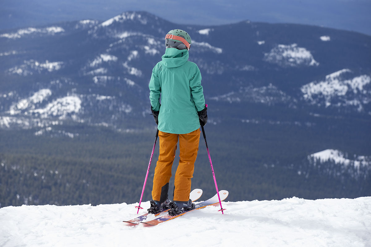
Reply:
[[[227,198],[228,194],[229,194],[229,192],[227,190],[221,190],[221,191],[219,191],[220,200],[221,201],[225,200]],[[215,196],[211,197],[209,200],[203,201],[201,203],[197,203],[195,205],[195,208],[193,210],[204,208],[204,207],[207,207],[207,206],[211,206],[211,205],[214,205],[214,204],[217,204],[217,203],[219,203],[219,198],[218,198],[218,194],[215,194]],[[190,211],[193,211],[193,210],[190,210]],[[221,209],[221,210],[224,210],[224,209]],[[165,222],[165,221],[168,221],[168,220],[172,220],[173,218],[176,218],[178,216],[181,216],[181,215],[183,215],[185,213],[188,213],[190,211],[186,211],[184,213],[177,214],[175,216],[171,216],[169,214],[164,214],[163,216],[160,216],[158,218],[155,218],[154,220],[145,221],[145,222],[141,222],[141,223],[144,224],[145,226],[156,226],[156,225],[158,225],[158,224],[160,224],[162,222]]]

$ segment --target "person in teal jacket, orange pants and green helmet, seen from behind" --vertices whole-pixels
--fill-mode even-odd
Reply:
[[[194,209],[189,199],[191,178],[200,140],[200,124],[207,122],[207,107],[197,65],[188,61],[191,37],[181,29],[165,36],[165,54],[152,70],[149,84],[151,111],[158,125],[160,153],[153,178],[151,207],[156,214],[171,208],[171,215]],[[160,103],[161,94],[161,103]],[[168,199],[171,167],[179,140],[180,159],[174,178],[173,201]]]

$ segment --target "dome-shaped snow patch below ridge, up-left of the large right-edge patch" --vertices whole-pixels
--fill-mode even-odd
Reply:
[[[269,53],[264,54],[264,61],[278,64],[281,67],[318,66],[310,51],[298,44],[279,44]]]

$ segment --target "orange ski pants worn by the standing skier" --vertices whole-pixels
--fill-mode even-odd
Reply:
[[[158,131],[160,153],[155,168],[152,188],[152,200],[163,202],[168,195],[175,151],[179,140],[179,164],[174,178],[174,201],[188,201],[191,192],[194,162],[197,158],[200,142],[200,129],[188,134],[171,134]]]

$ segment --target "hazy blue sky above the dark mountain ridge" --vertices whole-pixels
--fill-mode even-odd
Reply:
[[[219,25],[242,20],[299,23],[371,35],[371,0],[0,0],[0,28],[64,20],[106,20],[145,10],[174,23]]]

